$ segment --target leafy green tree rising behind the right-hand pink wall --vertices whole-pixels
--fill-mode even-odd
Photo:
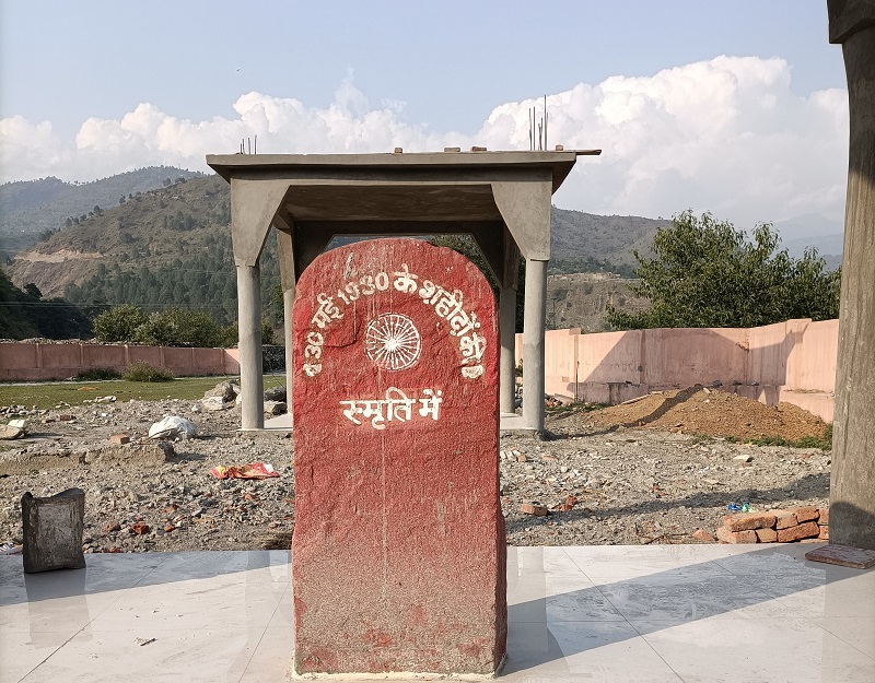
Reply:
[[[841,272],[826,271],[815,249],[793,259],[786,249],[775,251],[779,244],[768,223],[758,224],[748,240],[732,223],[685,211],[656,231],[652,256],[634,252],[641,282],[632,291],[651,307],[611,307],[605,319],[612,329],[643,329],[837,318]]]

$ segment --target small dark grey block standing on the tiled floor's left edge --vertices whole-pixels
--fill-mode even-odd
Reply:
[[[85,492],[68,488],[36,498],[30,492],[21,499],[24,523],[24,570],[27,574],[51,569],[83,569],[82,528]]]

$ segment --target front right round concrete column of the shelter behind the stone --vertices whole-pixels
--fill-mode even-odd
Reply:
[[[523,313],[523,420],[544,432],[544,332],[547,313],[547,261],[526,259]]]

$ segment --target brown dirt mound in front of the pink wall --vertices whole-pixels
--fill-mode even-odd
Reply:
[[[798,441],[819,438],[826,424],[796,405],[768,407],[759,401],[703,387],[657,391],[634,401],[557,421],[550,428],[646,427],[682,434],[708,434],[742,440],[780,437]]]

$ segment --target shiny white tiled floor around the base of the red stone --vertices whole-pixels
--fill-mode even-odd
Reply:
[[[875,568],[812,547],[510,547],[501,679],[872,683]],[[289,680],[288,552],[86,558],[0,556],[0,682]]]

